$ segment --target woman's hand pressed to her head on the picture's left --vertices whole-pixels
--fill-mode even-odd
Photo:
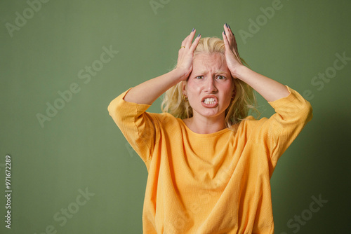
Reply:
[[[194,39],[196,30],[193,29],[192,32],[183,40],[182,46],[178,51],[178,62],[176,69],[182,74],[181,80],[185,81],[190,73],[192,72],[192,61],[194,57],[194,50],[197,48],[197,44],[201,38],[201,34]]]

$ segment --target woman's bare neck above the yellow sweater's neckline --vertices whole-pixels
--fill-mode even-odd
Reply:
[[[192,118],[187,118],[183,121],[187,125],[187,128],[199,134],[209,134],[226,128],[224,114],[208,118],[194,113]]]

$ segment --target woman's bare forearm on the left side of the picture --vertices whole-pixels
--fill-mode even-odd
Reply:
[[[137,104],[152,104],[166,90],[182,81],[183,76],[185,74],[182,74],[180,70],[174,69],[162,76],[152,78],[133,87],[127,92],[124,100]]]

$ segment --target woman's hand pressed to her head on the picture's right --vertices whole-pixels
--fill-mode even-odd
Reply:
[[[222,36],[225,45],[225,60],[233,78],[237,78],[237,68],[244,65],[241,62],[238,52],[237,40],[235,40],[232,29],[230,29],[230,26],[227,24],[225,24],[223,27],[224,31],[222,33]]]

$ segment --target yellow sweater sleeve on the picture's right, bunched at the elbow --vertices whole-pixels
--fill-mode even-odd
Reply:
[[[271,160],[277,161],[312,119],[312,106],[298,92],[286,86],[289,95],[268,102],[275,113],[270,118],[255,121],[251,139],[263,145]]]

